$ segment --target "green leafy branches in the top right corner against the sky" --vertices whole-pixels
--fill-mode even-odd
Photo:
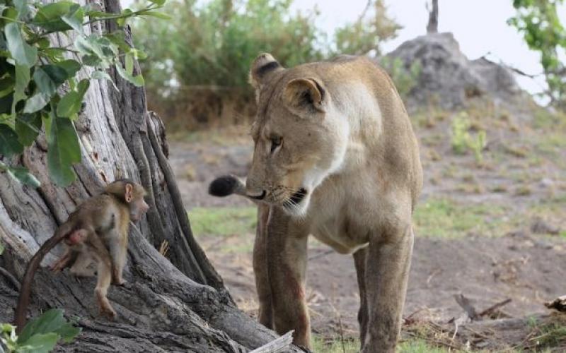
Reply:
[[[551,104],[566,109],[566,30],[560,23],[557,6],[563,0],[513,0],[516,16],[509,25],[521,32],[530,49],[541,53]]]

